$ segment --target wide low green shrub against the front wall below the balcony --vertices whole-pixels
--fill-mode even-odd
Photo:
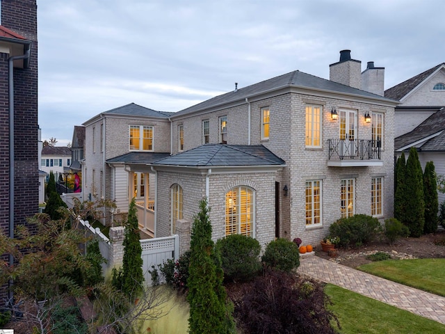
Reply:
[[[381,227],[377,218],[366,214],[355,214],[348,218],[340,218],[330,225],[329,232],[340,238],[339,246],[359,247],[372,241]]]

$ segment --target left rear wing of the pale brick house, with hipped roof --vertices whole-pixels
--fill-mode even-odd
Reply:
[[[147,154],[161,153],[156,155],[157,159],[168,156],[168,118],[171,115],[172,113],[155,111],[131,103],[99,113],[84,122],[83,198],[115,200],[118,211],[124,213],[128,212],[131,198],[136,197],[140,209],[144,212],[151,210],[154,187],[149,187],[148,184],[154,184],[154,175],[152,180],[145,180],[140,173],[129,175],[123,161],[112,158],[128,154],[126,157],[129,157],[131,162],[138,161],[140,156]],[[145,194],[150,195],[146,203],[143,200]],[[105,223],[110,222],[111,214],[104,213]]]

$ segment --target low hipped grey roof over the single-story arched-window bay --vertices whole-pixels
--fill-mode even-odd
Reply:
[[[263,145],[206,144],[154,162],[168,166],[281,166],[286,162]]]

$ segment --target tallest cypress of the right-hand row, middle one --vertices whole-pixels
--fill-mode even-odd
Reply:
[[[410,236],[420,237],[425,224],[425,199],[423,196],[423,173],[416,148],[411,148],[406,162],[406,207],[405,225]]]

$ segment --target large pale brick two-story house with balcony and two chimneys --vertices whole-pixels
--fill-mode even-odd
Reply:
[[[129,173],[133,182],[122,192],[128,200],[153,204],[139,221],[153,219],[155,237],[189,229],[198,202],[208,198],[215,240],[241,233],[262,245],[275,237],[315,244],[338,218],[393,216],[398,102],[383,96],[383,77],[383,67],[369,62],[361,72],[361,62],[343,50],[330,80],[296,70],[165,117],[163,158],[154,150],[105,149],[101,159]],[[84,124],[88,149],[93,124],[98,129],[99,118]],[[131,145],[131,122],[107,126],[120,134],[115,141]],[[89,165],[88,159],[87,153]],[[106,196],[115,198],[109,190]]]

